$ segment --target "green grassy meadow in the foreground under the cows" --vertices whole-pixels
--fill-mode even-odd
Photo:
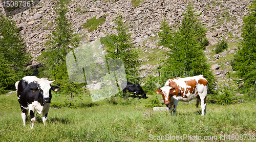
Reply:
[[[56,94],[53,96],[52,105],[66,99]],[[130,97],[129,101],[118,98],[117,105],[106,100],[93,103],[89,96],[82,96],[82,100],[77,97],[73,101],[73,108],[50,108],[46,126],[36,112],[34,128],[30,129],[29,119],[26,127],[23,126],[16,93],[3,94],[0,96],[0,141],[159,141],[157,138],[162,138],[160,141],[200,141],[200,137],[201,141],[255,139],[256,102],[226,106],[208,103],[205,116],[201,116],[201,108],[196,108],[195,102],[180,102],[176,116],[172,116],[168,111],[153,111],[153,108],[145,107],[148,100],[153,98],[148,97],[146,100]],[[158,97],[161,99],[161,96]],[[177,137],[180,135],[182,137]]]

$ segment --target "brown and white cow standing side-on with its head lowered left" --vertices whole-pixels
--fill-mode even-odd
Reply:
[[[158,94],[162,94],[164,104],[168,106],[169,111],[176,113],[179,101],[188,102],[197,98],[197,107],[199,101],[202,107],[202,115],[206,114],[206,94],[208,82],[202,75],[187,78],[169,79],[165,86],[156,90]]]

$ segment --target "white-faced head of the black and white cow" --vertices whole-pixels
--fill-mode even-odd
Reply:
[[[57,92],[60,90],[58,86],[52,86],[51,83],[54,81],[49,81],[47,78],[41,78],[35,80],[37,86],[34,88],[30,88],[31,90],[39,91],[39,97],[42,99],[42,104],[51,103],[52,93],[51,90]]]

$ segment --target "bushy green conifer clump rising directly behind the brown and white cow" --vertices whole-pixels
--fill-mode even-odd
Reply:
[[[192,9],[189,4],[177,31],[170,31],[165,20],[161,23],[160,44],[170,49],[166,52],[169,58],[162,66],[161,83],[164,84],[169,78],[201,74],[208,80],[209,88],[212,89],[215,85],[215,77],[208,71],[210,66],[202,50],[205,45],[202,44],[205,30]]]

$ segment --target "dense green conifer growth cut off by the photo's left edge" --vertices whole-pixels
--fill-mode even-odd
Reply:
[[[28,75],[31,55],[15,21],[0,13],[0,93],[14,89],[14,83]],[[2,89],[1,89],[2,88]]]

